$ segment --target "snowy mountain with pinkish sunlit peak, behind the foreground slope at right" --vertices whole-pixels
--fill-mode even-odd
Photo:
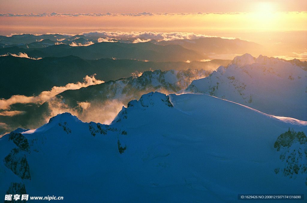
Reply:
[[[275,116],[307,121],[307,62],[244,54],[193,81],[185,92],[209,94]]]

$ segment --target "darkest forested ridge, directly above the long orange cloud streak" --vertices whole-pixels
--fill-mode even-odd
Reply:
[[[53,86],[65,86],[68,83],[82,82],[86,75],[97,74],[96,79],[103,81],[127,78],[135,71],[144,72],[160,69],[184,70],[204,69],[215,70],[220,65],[226,65],[230,60],[212,60],[208,62],[143,62],[128,59],[86,60],[77,56],[45,57],[40,60],[14,56],[0,57],[0,98],[10,98],[12,95],[37,95],[50,90]],[[12,78],[17,78],[10,86]]]

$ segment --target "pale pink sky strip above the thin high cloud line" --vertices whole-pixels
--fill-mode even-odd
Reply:
[[[0,0],[0,13],[198,13],[307,11],[306,0]]]

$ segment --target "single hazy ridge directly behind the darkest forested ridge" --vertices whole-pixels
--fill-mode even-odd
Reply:
[[[18,48],[8,47],[0,49],[0,55],[8,53],[18,54],[26,53],[32,58],[44,57],[63,57],[78,56],[82,59],[138,59],[155,62],[167,61],[193,61],[209,59],[202,53],[189,50],[180,45],[156,45],[150,42],[144,43],[121,43],[121,42],[100,42],[89,46],[70,46],[67,44],[58,44],[47,46],[45,48]]]

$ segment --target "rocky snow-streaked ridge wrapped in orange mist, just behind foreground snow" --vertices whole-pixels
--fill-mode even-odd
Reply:
[[[3,129],[0,128],[0,130],[3,134],[17,127],[37,128],[45,124],[46,119],[49,120],[50,117],[64,112],[78,115],[83,121],[110,123],[122,106],[130,100],[139,99],[142,94],[147,94],[151,91],[180,94],[193,80],[206,77],[210,73],[212,71],[202,69],[145,71],[140,75],[115,81],[110,80],[80,88],[79,90],[63,90],[64,92],[61,94],[49,100],[46,99],[43,104],[28,102],[10,105],[8,112],[19,112],[19,114],[7,116],[5,114],[7,109],[3,109],[0,111],[2,113],[0,114],[0,120],[7,126]]]

